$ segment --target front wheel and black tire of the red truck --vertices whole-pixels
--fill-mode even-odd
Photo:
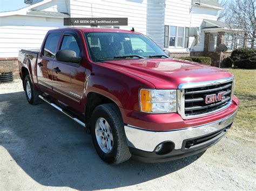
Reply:
[[[102,128],[99,125],[99,123],[102,124],[101,122],[105,122],[104,125],[106,127],[107,124],[109,124],[110,131],[102,131]],[[129,147],[126,144],[123,119],[115,104],[107,103],[96,107],[91,116],[90,126],[93,145],[102,160],[109,164],[117,165],[131,158]],[[98,130],[100,133],[103,132],[104,135],[96,136],[96,131],[98,132]],[[107,138],[109,135],[110,137]],[[102,149],[98,143],[98,140],[101,138],[102,140],[106,138],[106,149]],[[110,148],[112,146],[111,149],[108,149],[107,143],[110,143],[109,141],[111,142],[111,144],[109,144]]]

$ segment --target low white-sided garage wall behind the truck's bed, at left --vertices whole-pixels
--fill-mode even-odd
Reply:
[[[40,48],[45,34],[51,29],[63,27],[62,22],[63,20],[58,18],[1,17],[0,58],[18,57],[18,52],[22,48]]]

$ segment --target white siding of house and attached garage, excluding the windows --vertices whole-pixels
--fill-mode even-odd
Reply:
[[[33,4],[42,2],[34,0]],[[204,27],[203,19],[217,20],[217,9],[196,6],[191,0],[52,0],[33,10],[66,12],[71,17],[127,17],[128,26],[120,29],[146,34],[161,48],[164,47],[164,25]],[[1,17],[0,57],[17,57],[21,48],[40,48],[48,30],[63,26],[62,18],[12,15]],[[90,26],[85,26],[90,27]],[[200,43],[188,48],[169,47],[173,55],[204,51],[204,32],[200,30]],[[177,53],[177,54],[176,54]]]

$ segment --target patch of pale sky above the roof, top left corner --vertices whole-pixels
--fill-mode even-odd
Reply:
[[[0,12],[14,11],[29,6],[24,0],[0,0]]]

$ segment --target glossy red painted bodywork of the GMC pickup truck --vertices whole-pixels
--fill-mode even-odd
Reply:
[[[83,36],[84,32],[136,32],[77,27],[51,30],[48,34],[52,32],[61,33],[57,49],[60,48],[63,34],[67,31],[76,33],[82,46],[83,60],[80,66],[74,67],[70,63],[46,58],[42,55],[43,51],[39,51],[38,58],[30,60],[30,65],[25,65],[22,58],[19,58],[19,70],[21,72],[22,67],[28,68],[34,87],[61,101],[80,117],[84,117],[86,97],[90,93],[104,95],[116,103],[122,112],[124,123],[158,131],[210,123],[232,114],[238,108],[239,102],[233,96],[229,108],[211,116],[196,119],[184,120],[178,114],[146,114],[140,112],[138,100],[140,88],[177,89],[180,83],[223,79],[232,76],[232,74],[226,70],[196,62],[173,59],[127,59],[96,63],[89,57]],[[43,49],[44,44],[45,40],[41,49]],[[28,53],[21,51],[19,54],[25,56]],[[39,67],[38,62],[42,62],[44,66]],[[53,68],[56,67],[61,70],[58,74],[53,71]],[[88,83],[85,83],[86,79],[90,79]],[[41,82],[38,83],[40,80]],[[87,89],[85,89],[86,84]],[[221,95],[213,95],[208,100],[215,101],[220,100],[220,98]]]

